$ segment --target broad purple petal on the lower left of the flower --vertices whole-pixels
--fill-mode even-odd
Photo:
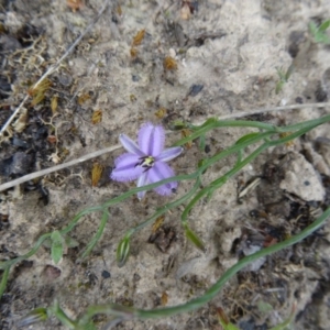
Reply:
[[[140,162],[139,156],[125,153],[114,161],[116,168],[111,173],[111,178],[116,182],[131,182],[143,173],[144,168],[135,165]]]

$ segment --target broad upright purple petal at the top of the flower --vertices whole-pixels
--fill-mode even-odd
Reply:
[[[139,145],[147,156],[158,156],[164,148],[165,131],[161,125],[145,123],[139,131]]]

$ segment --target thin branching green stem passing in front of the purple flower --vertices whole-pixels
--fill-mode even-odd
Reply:
[[[180,141],[178,141],[176,143],[176,145],[183,145],[191,140],[195,140],[204,134],[206,134],[208,131],[215,129],[215,128],[221,128],[221,127],[246,127],[246,128],[256,128],[260,130],[265,130],[266,132],[264,133],[260,133],[257,134],[255,138],[249,139],[249,141],[243,141],[241,143],[238,143],[231,147],[229,147],[227,151],[223,151],[221,153],[216,154],[215,156],[208,158],[206,162],[204,162],[202,166],[200,166],[195,173],[189,174],[189,175],[179,175],[176,177],[172,177],[168,179],[164,179],[162,182],[158,182],[156,184],[152,184],[152,185],[147,185],[144,187],[140,187],[140,188],[134,188],[131,189],[130,191],[122,194],[119,197],[116,197],[107,202],[105,202],[101,206],[96,206],[96,207],[91,207],[88,209],[82,210],[81,212],[79,212],[78,215],[75,216],[75,218],[69,222],[69,224],[64,228],[63,230],[61,230],[61,234],[67,234],[68,232],[70,232],[75,226],[78,223],[78,221],[80,220],[81,217],[95,212],[95,211],[105,211],[106,209],[108,209],[108,207],[123,201],[127,198],[129,198],[130,196],[136,194],[138,191],[143,191],[143,190],[148,190],[148,189],[154,189],[163,184],[176,180],[176,182],[180,182],[180,180],[185,180],[185,179],[200,179],[200,176],[205,173],[205,170],[213,165],[215,163],[219,162],[220,160],[242,151],[243,148],[245,148],[249,145],[252,145],[254,143],[261,142],[262,140],[268,140],[268,142],[264,143],[262,146],[260,146],[253,154],[251,154],[250,156],[248,156],[243,162],[240,162],[239,164],[237,164],[234,166],[234,168],[232,170],[230,170],[226,176],[215,180],[213,183],[211,183],[211,185],[209,187],[206,187],[205,189],[200,190],[198,193],[198,195],[188,204],[188,206],[186,207],[184,215],[183,215],[183,219],[185,219],[184,217],[187,217],[189,210],[191,209],[191,207],[205,195],[210,193],[211,190],[218,189],[221,185],[223,185],[226,183],[226,180],[231,177],[232,175],[234,175],[240,168],[242,168],[244,165],[246,165],[249,162],[251,162],[257,154],[260,154],[260,152],[268,146],[273,146],[273,145],[277,145],[280,143],[285,143],[288,142],[299,135],[301,135],[302,133],[308,132],[309,130],[311,130],[312,128],[322,124],[327,121],[330,121],[330,116],[324,116],[322,118],[319,119],[315,119],[315,120],[310,120],[310,121],[306,121],[302,123],[298,123],[298,124],[293,124],[293,125],[287,125],[285,128],[277,128],[274,127],[272,124],[266,124],[266,123],[260,123],[260,122],[254,122],[254,121],[218,121],[215,119],[208,120],[205,124],[198,127],[198,128],[193,128],[194,132],[190,136],[187,136],[185,139],[182,139]],[[270,140],[270,138],[274,134],[278,134],[279,132],[290,132],[290,131],[295,131],[295,130],[299,130],[298,132],[295,132],[293,134],[290,134],[289,136],[283,138],[283,139],[277,139],[276,141],[272,141]],[[194,189],[191,191],[196,193],[198,189],[199,184],[194,186]],[[138,231],[141,228],[145,227],[147,223],[152,222],[154,219],[156,219],[157,217],[160,217],[160,215],[164,213],[168,207],[175,207],[180,205],[182,202],[186,201],[188,198],[190,198],[194,193],[188,193],[185,196],[183,196],[182,198],[179,198],[178,200],[169,204],[168,206],[163,207],[161,210],[158,210],[153,217],[148,218],[146,221],[142,222],[141,224],[139,224],[135,229],[133,229],[133,231]],[[106,226],[106,220],[101,221],[101,224],[99,227],[99,230],[97,232],[97,235],[94,238],[92,242],[90,242],[89,246],[94,246],[95,243],[99,240],[99,238],[101,237],[101,233],[103,232],[105,226]],[[52,233],[46,233],[43,234],[42,237],[40,237],[36,241],[36,243],[34,244],[34,246],[32,248],[32,250],[30,250],[28,253],[25,253],[24,255],[21,255],[19,257],[15,257],[13,260],[10,261],[6,261],[6,262],[0,262],[0,270],[4,270],[3,274],[2,274],[2,279],[1,279],[1,284],[0,284],[0,297],[1,294],[3,294],[4,289],[6,289],[6,284],[8,280],[8,276],[9,276],[9,271],[10,267],[14,264],[16,264],[18,262],[21,262],[23,260],[26,260],[29,257],[31,257],[32,255],[34,255],[37,250],[40,249],[41,244],[48,238],[51,238]],[[87,248],[88,251],[89,246]],[[91,248],[92,249],[92,248]]]

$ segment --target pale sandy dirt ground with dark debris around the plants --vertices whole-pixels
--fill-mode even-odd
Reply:
[[[1,125],[30,94],[1,142],[1,184],[114,145],[120,133],[135,139],[147,121],[169,130],[178,119],[201,123],[210,117],[285,105],[297,105],[297,109],[251,119],[283,125],[326,113],[299,109],[299,105],[330,98],[329,75],[324,74],[330,48],[312,43],[308,32],[311,20],[330,18],[329,0],[200,0],[190,1],[190,7],[179,0],[109,2],[90,32],[35,91],[31,86],[85,31],[105,2],[0,1]],[[73,10],[74,3],[82,4]],[[276,68],[286,70],[292,64],[288,82],[276,94]],[[194,143],[173,162],[176,173],[193,173],[199,160],[232,145],[246,132],[213,131],[205,152]],[[166,144],[180,136],[170,132]],[[55,299],[75,318],[92,304],[156,308],[202,295],[242,255],[261,249],[261,241],[280,241],[299,232],[329,206],[329,139],[326,124],[289,146],[272,148],[209,202],[199,202],[189,215],[189,224],[206,242],[206,253],[187,242],[178,208],[166,215],[158,240],[148,243],[151,228],[140,231],[133,237],[127,265],[119,268],[116,263],[117,245],[127,230],[188,191],[189,182],[179,184],[176,196],[165,198],[151,191],[142,202],[130,198],[111,208],[101,240],[77,263],[100,221],[99,213],[85,217],[70,234],[78,246],[68,249],[58,264],[43,246],[12,268],[1,299],[0,329],[16,329],[18,320],[29,311],[51,306]],[[41,234],[62,229],[84,208],[132,187],[109,179],[121,153],[118,150],[0,193],[1,260],[26,253]],[[103,176],[94,187],[96,162],[103,167]],[[205,182],[233,164],[234,157],[220,162],[207,172]],[[238,200],[238,191],[256,177],[262,177],[260,185]],[[240,329],[270,329],[284,321],[295,304],[293,329],[329,329],[329,229],[326,226],[292,249],[251,265],[195,312],[130,321],[116,329],[221,329],[218,306]],[[101,328],[106,319],[96,321]],[[52,318],[31,329],[65,328]]]

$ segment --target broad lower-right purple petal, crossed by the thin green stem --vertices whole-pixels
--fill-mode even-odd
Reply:
[[[155,165],[147,172],[148,184],[154,184],[165,178],[174,176],[174,170],[163,162],[156,162]],[[177,188],[177,182],[167,183],[155,188],[160,195],[168,196]]]

